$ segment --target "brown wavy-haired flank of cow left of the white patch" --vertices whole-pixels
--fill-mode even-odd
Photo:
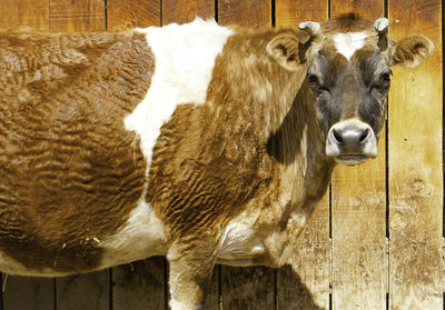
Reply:
[[[100,242],[144,191],[146,162],[123,119],[152,72],[141,34],[0,33],[2,271],[99,267]]]

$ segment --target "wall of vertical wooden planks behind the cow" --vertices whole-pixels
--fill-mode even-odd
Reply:
[[[337,168],[290,268],[216,267],[206,309],[445,309],[441,0],[1,0],[0,28],[102,31],[188,22],[296,27],[357,11],[436,46],[394,69],[379,157]],[[445,257],[445,256],[444,256]],[[59,279],[9,277],[1,308],[167,309],[162,258]]]

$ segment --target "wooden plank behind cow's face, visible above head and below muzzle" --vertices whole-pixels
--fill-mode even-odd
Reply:
[[[330,6],[333,17],[352,10],[369,20],[384,16],[383,0],[332,0]],[[332,186],[332,240],[333,308],[386,309],[385,134],[380,136],[376,160],[336,168]]]

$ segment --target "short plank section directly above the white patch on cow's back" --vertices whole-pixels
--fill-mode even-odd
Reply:
[[[171,22],[185,23],[196,17],[215,18],[214,0],[164,0],[162,24]]]

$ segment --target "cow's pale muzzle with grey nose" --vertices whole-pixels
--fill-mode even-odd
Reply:
[[[328,132],[326,154],[338,163],[358,164],[377,157],[377,139],[367,123],[348,119],[335,123]]]

